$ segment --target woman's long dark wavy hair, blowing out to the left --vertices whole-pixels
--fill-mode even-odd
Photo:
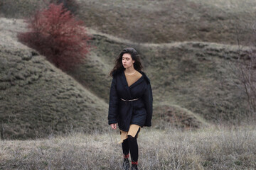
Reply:
[[[142,71],[142,62],[139,58],[139,53],[133,48],[133,47],[126,47],[120,54],[117,56],[114,64],[114,68],[110,72],[110,76],[112,77],[112,73],[118,70],[124,70],[124,66],[122,64],[122,56],[124,54],[129,54],[132,57],[132,60],[134,60],[134,69],[138,71]]]

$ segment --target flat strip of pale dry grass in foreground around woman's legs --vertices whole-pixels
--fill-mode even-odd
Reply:
[[[0,169],[120,169],[117,132],[73,133],[44,140],[1,141]],[[210,127],[196,131],[143,129],[140,169],[255,169],[256,130]]]

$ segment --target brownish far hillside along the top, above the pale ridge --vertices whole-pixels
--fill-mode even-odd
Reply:
[[[77,1],[75,13],[88,27],[133,42],[234,45],[239,37],[247,45],[255,23],[254,0]],[[43,1],[2,0],[0,16],[23,18],[39,6],[44,6]]]

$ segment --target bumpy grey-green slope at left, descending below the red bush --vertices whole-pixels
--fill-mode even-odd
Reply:
[[[104,101],[17,42],[23,21],[1,18],[0,26],[1,139],[106,130]]]

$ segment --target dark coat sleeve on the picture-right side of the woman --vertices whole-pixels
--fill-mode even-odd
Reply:
[[[152,114],[153,114],[153,96],[152,96],[152,89],[151,89],[150,83],[147,84],[143,99],[144,99],[144,103],[146,106],[145,126],[151,126],[151,119],[152,119]]]

